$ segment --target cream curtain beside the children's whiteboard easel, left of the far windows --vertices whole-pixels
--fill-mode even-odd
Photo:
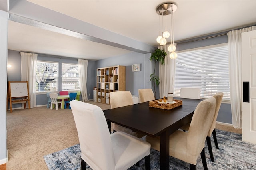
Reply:
[[[30,107],[36,107],[36,61],[37,54],[23,53],[21,55],[21,81],[28,81]],[[24,103],[22,103],[24,107]],[[28,107],[28,105],[26,105]]]

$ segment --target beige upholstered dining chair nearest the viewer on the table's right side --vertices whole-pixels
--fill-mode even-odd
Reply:
[[[190,164],[190,170],[196,169],[196,162],[201,154],[204,170],[207,169],[204,143],[214,118],[216,100],[214,97],[201,101],[192,117],[188,132],[177,130],[169,137],[169,154]],[[146,136],[151,148],[160,151],[160,137]]]

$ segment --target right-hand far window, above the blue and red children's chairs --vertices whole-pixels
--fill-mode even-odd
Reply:
[[[78,64],[62,63],[62,90],[80,90]]]

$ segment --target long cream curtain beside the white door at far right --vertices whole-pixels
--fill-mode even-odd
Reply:
[[[242,40],[241,34],[256,30],[256,26],[228,32],[230,103],[232,124],[242,128]]]

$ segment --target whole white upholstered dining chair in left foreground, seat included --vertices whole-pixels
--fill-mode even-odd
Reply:
[[[145,158],[150,169],[150,144],[130,134],[109,133],[102,109],[82,101],[70,101],[81,148],[81,169],[126,170]],[[93,129],[93,130],[92,130]]]

